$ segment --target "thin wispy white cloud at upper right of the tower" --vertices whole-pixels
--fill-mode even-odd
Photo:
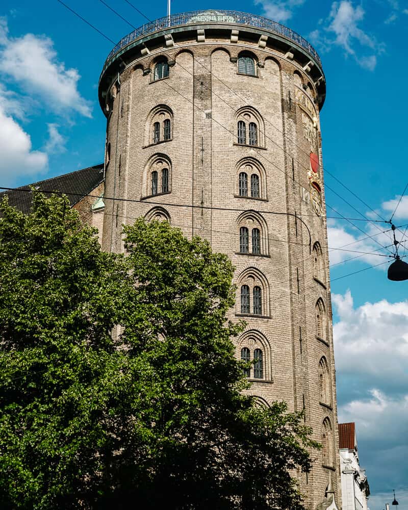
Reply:
[[[324,32],[314,30],[309,37],[315,44],[325,46],[325,49],[340,46],[346,56],[352,56],[363,68],[373,70],[377,63],[375,54],[381,53],[384,45],[378,44],[374,37],[360,28],[364,15],[360,5],[354,8],[348,0],[334,2],[325,20]],[[366,48],[370,48],[374,54],[361,55]]]

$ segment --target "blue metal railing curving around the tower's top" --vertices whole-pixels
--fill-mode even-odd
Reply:
[[[299,34],[289,29],[288,27],[285,27],[285,25],[282,25],[281,23],[272,21],[271,19],[265,18],[264,16],[257,16],[256,14],[248,14],[245,12],[201,10],[172,14],[169,18],[165,16],[163,18],[156,19],[155,21],[150,21],[149,23],[146,23],[138,29],[134,30],[130,34],[127,34],[125,37],[120,39],[120,41],[108,55],[108,58],[104,64],[104,69],[112,57],[114,57],[115,54],[119,52],[119,50],[127,46],[127,44],[135,41],[139,37],[150,34],[152,32],[166,30],[170,27],[177,27],[179,25],[209,22],[227,24],[238,23],[241,25],[249,25],[250,27],[258,27],[275,34],[282,35],[307,50],[307,52],[321,66],[321,60],[315,48],[306,39],[303,39],[303,37],[301,37]]]

